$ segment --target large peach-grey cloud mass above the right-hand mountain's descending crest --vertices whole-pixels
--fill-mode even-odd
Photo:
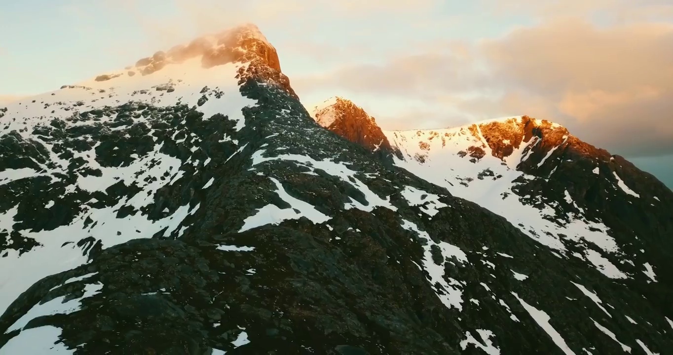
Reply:
[[[579,20],[520,29],[481,44],[494,77],[546,102],[575,134],[627,155],[673,152],[673,26],[598,28]],[[504,106],[525,110],[525,103]]]

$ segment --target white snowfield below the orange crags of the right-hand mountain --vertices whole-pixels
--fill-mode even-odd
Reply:
[[[521,117],[509,118],[511,123],[505,127],[519,130]],[[493,120],[489,122],[507,122]],[[565,192],[567,203],[575,208],[565,208],[565,213],[557,215],[553,205],[536,206],[520,200],[512,188],[520,179],[534,179],[532,175],[518,171],[516,167],[526,161],[533,153],[532,147],[540,140],[533,136],[530,141],[510,142],[503,139],[505,145],[514,149],[506,157],[493,154],[491,147],[481,134],[481,127],[488,122],[480,122],[457,128],[439,130],[409,130],[386,132],[388,139],[406,156],[398,165],[412,171],[419,177],[444,186],[454,196],[465,198],[504,216],[507,221],[517,225],[526,235],[536,241],[557,250],[561,255],[574,256],[587,260],[610,278],[625,278],[627,274],[618,266],[610,263],[603,253],[614,253],[624,257],[623,262],[633,264],[606,233],[602,223],[588,221],[572,198]],[[561,126],[550,129],[564,130]],[[548,156],[567,143],[567,132],[563,132],[563,141],[553,147],[538,164],[543,164]],[[542,202],[540,196],[540,201]],[[562,237],[563,235],[563,237]],[[566,243],[580,244],[586,247],[581,253],[571,253]]]

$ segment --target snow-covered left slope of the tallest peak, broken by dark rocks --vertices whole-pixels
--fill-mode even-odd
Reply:
[[[19,211],[14,206],[2,215],[0,233],[12,235],[20,231],[11,221],[17,213],[57,214],[63,206],[63,195],[80,194],[78,204],[83,207],[69,216],[71,222],[55,229],[44,227],[22,231],[23,239],[40,247],[29,247],[26,242],[10,238],[0,258],[2,270],[22,270],[22,277],[5,272],[0,275],[0,311],[11,301],[44,276],[75,268],[87,261],[81,249],[75,245],[89,236],[95,236],[101,247],[111,247],[138,237],[152,237],[155,233],[170,235],[182,220],[193,212],[192,208],[180,206],[166,212],[164,218],[151,221],[142,214],[119,219],[116,212],[122,206],[141,210],[153,204],[157,190],[164,184],[178,180],[182,162],[165,153],[164,145],[151,145],[151,150],[139,154],[129,151],[129,140],[151,139],[156,142],[150,128],[143,137],[134,137],[129,126],[147,122],[153,112],[144,104],[155,108],[168,108],[176,104],[188,107],[199,106],[199,112],[211,117],[219,112],[231,112],[229,119],[236,122],[236,130],[245,125],[241,109],[254,106],[256,102],[243,97],[235,78],[240,64],[221,65],[211,69],[201,67],[201,58],[180,65],[169,65],[164,70],[148,76],[118,77],[114,81],[88,81],[75,87],[30,97],[7,106],[0,123],[0,135],[6,140],[21,139],[24,149],[38,149],[40,154],[30,161],[15,160],[3,156],[7,167],[0,171],[0,184],[8,184],[27,177],[42,177],[46,186],[42,199],[32,203],[32,210]],[[219,77],[218,86],[209,89],[213,76]],[[221,95],[217,100],[207,100],[199,105],[202,97]],[[120,104],[134,102],[129,110],[120,114],[111,109]],[[170,114],[170,111],[167,112]],[[105,127],[92,130],[89,119]],[[77,128],[81,128],[78,131]],[[68,134],[65,141],[56,140],[55,131]],[[87,132],[88,131],[88,132]],[[14,133],[10,133],[14,132]],[[115,132],[118,132],[115,136]],[[6,134],[6,135],[5,135]],[[102,140],[100,134],[110,137]],[[188,137],[184,130],[174,130],[174,138],[197,143],[197,137]],[[220,137],[226,140],[227,136]],[[127,149],[125,149],[127,148]],[[116,151],[120,153],[117,154]],[[11,154],[15,152],[6,152]],[[130,154],[129,154],[130,153]],[[129,154],[129,155],[126,155]],[[4,159],[3,159],[4,160]],[[78,165],[73,169],[74,164]],[[128,163],[127,163],[128,162]],[[15,167],[12,167],[15,165]],[[19,167],[20,166],[20,167]],[[121,199],[112,206],[96,199],[96,194],[116,184],[135,186],[137,191],[129,199]],[[11,193],[9,191],[8,193]],[[99,207],[101,206],[101,207]],[[179,234],[179,233],[178,233]],[[98,242],[97,242],[98,243]]]

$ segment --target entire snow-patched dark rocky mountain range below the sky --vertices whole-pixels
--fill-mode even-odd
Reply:
[[[0,108],[0,354],[671,353],[652,175],[289,83],[246,25]]]

